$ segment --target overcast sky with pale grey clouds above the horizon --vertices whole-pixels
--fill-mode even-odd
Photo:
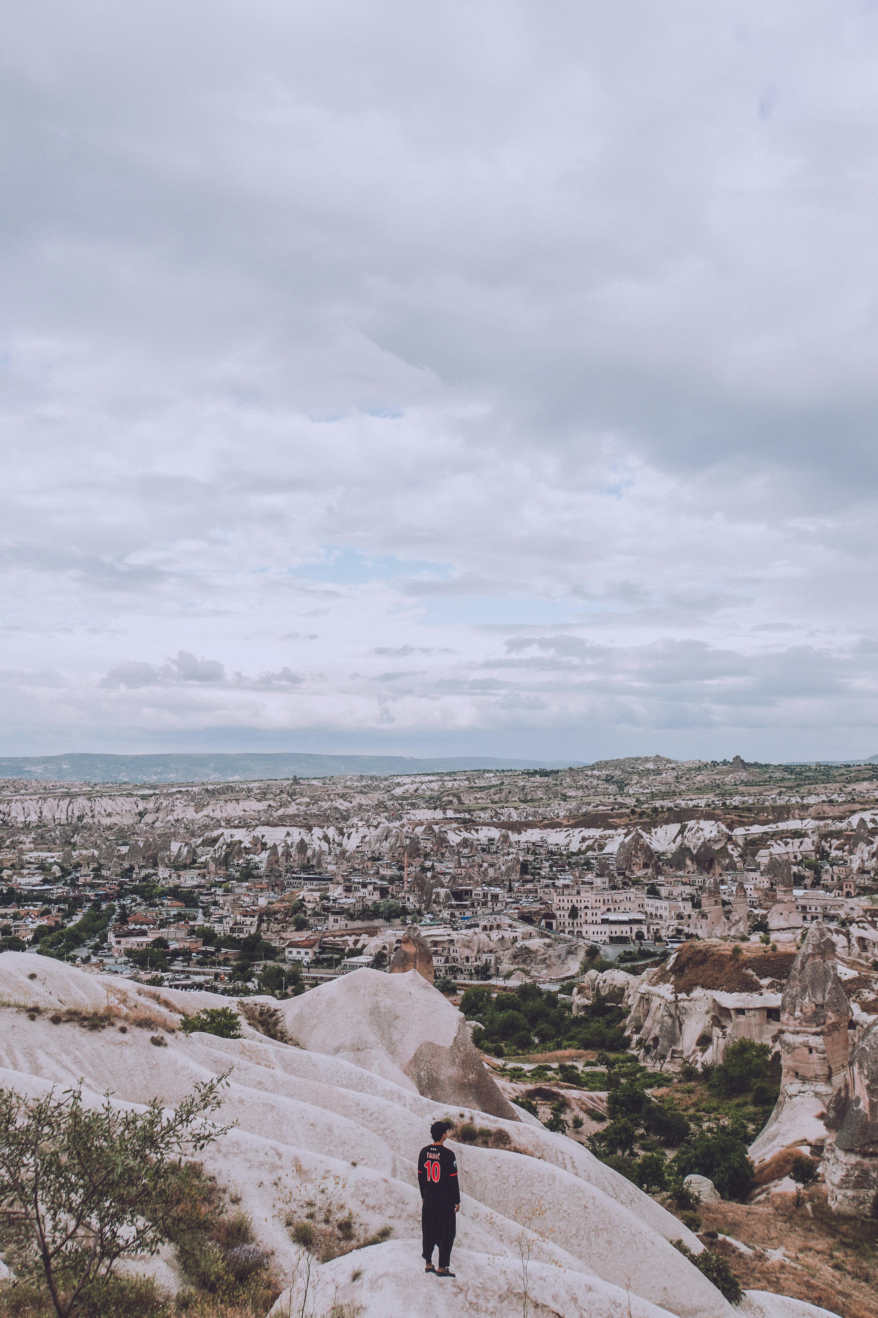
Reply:
[[[874,3],[3,28],[4,754],[878,751]]]

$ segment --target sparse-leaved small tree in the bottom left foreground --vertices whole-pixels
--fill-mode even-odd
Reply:
[[[95,1296],[120,1259],[155,1253],[179,1209],[184,1153],[224,1133],[207,1120],[225,1075],[168,1115],[158,1099],[86,1108],[82,1083],[39,1099],[0,1090],[0,1219],[18,1277],[42,1276],[58,1318]]]

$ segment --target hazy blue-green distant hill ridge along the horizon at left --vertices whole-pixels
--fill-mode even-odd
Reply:
[[[467,768],[567,768],[582,760],[409,759],[405,755],[25,755],[0,758],[0,779],[61,783],[228,783],[261,778],[334,778],[345,774],[449,774]]]

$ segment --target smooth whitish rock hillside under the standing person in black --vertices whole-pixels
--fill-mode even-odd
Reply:
[[[286,1223],[321,1193],[365,1239],[386,1239],[312,1268],[317,1318],[340,1304],[362,1318],[507,1318],[523,1311],[523,1253],[532,1318],[733,1311],[670,1244],[702,1249],[675,1218],[573,1140],[521,1110],[505,1115],[492,1082],[475,1077],[459,1014],[416,971],[362,970],[291,1002],[265,999],[283,1015],[271,1016],[280,1037],[246,1020],[241,1039],[186,1036],[183,1014],[228,1007],[229,998],[147,988],[29,954],[0,956],[0,1085],[20,1093],[82,1078],[92,1103],[111,1093],[120,1104],[158,1095],[172,1106],[197,1081],[228,1073],[221,1119],[236,1124],[204,1162],[240,1197],[259,1244],[292,1281],[276,1314],[296,1313],[301,1298],[303,1251]],[[259,1023],[261,1000],[244,1006]],[[429,1123],[442,1116],[475,1120],[498,1145],[455,1145],[462,1211],[449,1282],[423,1272],[415,1174]],[[178,1284],[172,1256],[151,1268],[168,1288]],[[749,1292],[737,1311],[825,1313],[765,1292]]]

